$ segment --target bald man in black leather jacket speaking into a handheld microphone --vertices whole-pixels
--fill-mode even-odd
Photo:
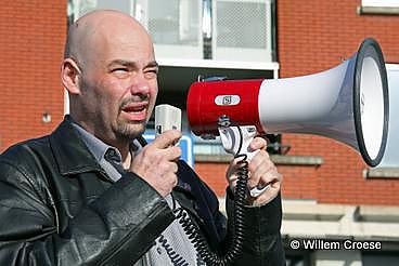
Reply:
[[[215,195],[178,161],[181,133],[142,142],[157,71],[151,38],[130,16],[96,11],[70,26],[61,69],[70,116],[0,157],[0,265],[204,265],[176,210],[226,252],[231,232]],[[247,200],[236,265],[284,264],[281,175],[265,147],[259,137],[250,145],[260,151],[248,186],[270,187]],[[229,213],[236,170],[233,161]]]

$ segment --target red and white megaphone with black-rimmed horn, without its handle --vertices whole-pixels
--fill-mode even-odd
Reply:
[[[388,132],[388,83],[383,53],[371,38],[329,70],[284,79],[200,81],[186,110],[195,135],[219,135],[218,121],[255,125],[259,133],[326,136],[358,150],[375,167]]]

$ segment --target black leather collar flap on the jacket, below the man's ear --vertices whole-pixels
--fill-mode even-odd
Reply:
[[[64,121],[50,135],[50,145],[62,175],[88,171],[102,171],[79,133],[72,125],[72,118]]]

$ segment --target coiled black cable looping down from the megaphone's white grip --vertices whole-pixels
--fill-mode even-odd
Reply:
[[[239,127],[240,129],[240,127]],[[240,143],[242,146],[242,142]],[[241,150],[241,149],[239,149]],[[179,223],[183,227],[189,240],[193,243],[197,251],[197,255],[209,266],[227,266],[231,265],[242,253],[244,244],[244,230],[245,230],[245,215],[244,205],[247,192],[247,181],[248,181],[248,161],[246,155],[236,155],[234,158],[242,158],[237,163],[240,165],[237,170],[237,183],[234,192],[234,231],[230,241],[228,252],[219,256],[211,252],[205,240],[200,234],[200,228],[194,224],[189,214],[183,211],[182,208],[173,208],[173,213]]]

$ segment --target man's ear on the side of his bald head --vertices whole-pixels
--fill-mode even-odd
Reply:
[[[65,58],[61,65],[61,81],[69,94],[80,94],[80,69],[72,58]]]

